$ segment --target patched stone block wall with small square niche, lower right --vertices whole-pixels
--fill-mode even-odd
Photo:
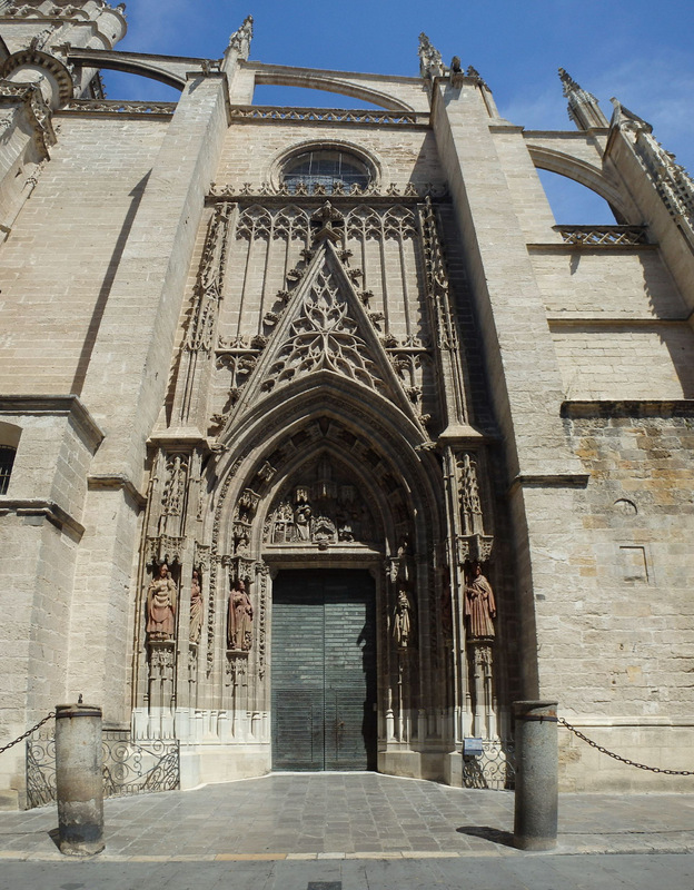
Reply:
[[[544,514],[531,538],[541,694],[624,756],[692,769],[691,406],[574,404],[566,413],[568,441],[591,475],[571,505],[548,493],[532,498],[533,514]],[[562,732],[567,789],[672,787],[604,755],[598,761]]]

